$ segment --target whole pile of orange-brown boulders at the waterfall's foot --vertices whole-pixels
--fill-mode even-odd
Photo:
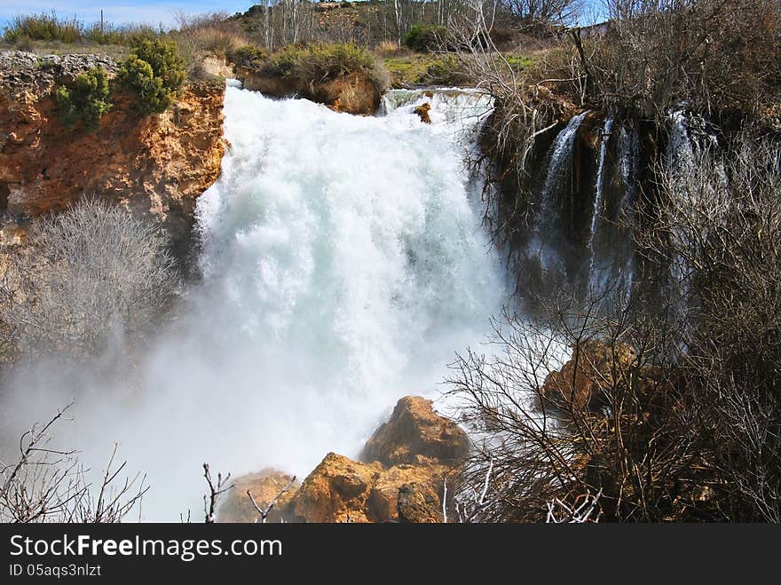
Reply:
[[[469,439],[456,423],[435,413],[430,400],[407,396],[367,441],[361,461],[327,454],[300,486],[280,495],[268,521],[441,522],[444,483],[468,454]],[[290,479],[272,470],[237,479],[219,520],[255,521],[247,492],[265,508]]]

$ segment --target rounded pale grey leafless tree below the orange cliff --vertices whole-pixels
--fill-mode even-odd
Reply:
[[[5,255],[0,320],[21,352],[82,358],[112,339],[141,341],[177,290],[162,231],[88,197],[36,220]]]

